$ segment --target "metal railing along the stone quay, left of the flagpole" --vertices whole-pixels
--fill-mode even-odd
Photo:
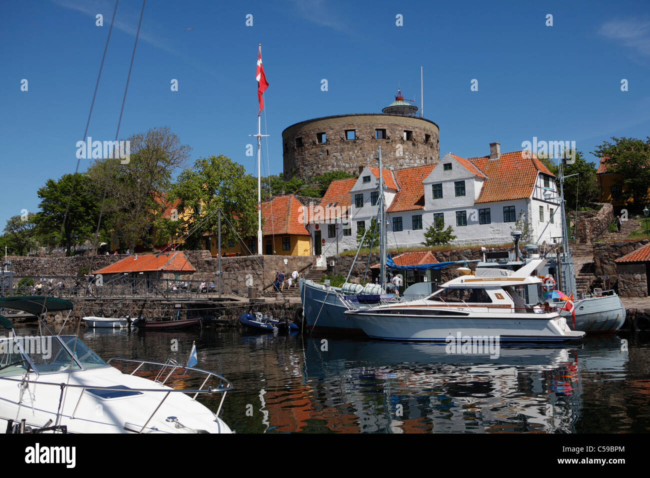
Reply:
[[[129,276],[14,276],[2,278],[0,295],[47,295],[48,297],[214,299],[214,282],[133,278]]]

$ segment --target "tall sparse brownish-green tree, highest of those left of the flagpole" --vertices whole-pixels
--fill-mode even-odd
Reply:
[[[168,127],[149,129],[127,139],[129,161],[101,159],[88,170],[96,194],[104,200],[106,228],[129,248],[153,245],[153,224],[166,208],[168,191],[192,148]]]

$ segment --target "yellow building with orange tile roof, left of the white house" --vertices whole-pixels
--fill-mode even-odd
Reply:
[[[268,256],[309,256],[309,231],[302,216],[302,203],[293,194],[276,196],[262,203],[262,247]],[[216,233],[206,233],[205,248],[213,256],[218,253]],[[257,254],[257,236],[242,241],[223,241],[222,256]]]

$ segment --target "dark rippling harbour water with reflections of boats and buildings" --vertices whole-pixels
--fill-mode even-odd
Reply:
[[[36,326],[17,325],[16,333],[35,334]],[[575,346],[502,346],[498,358],[448,354],[444,344],[211,327],[81,335],[105,360],[185,364],[196,341],[196,366],[224,375],[235,388],[222,418],[239,433],[650,431],[647,334],[590,337]],[[218,399],[204,403],[216,410]]]

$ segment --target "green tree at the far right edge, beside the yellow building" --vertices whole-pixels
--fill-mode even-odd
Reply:
[[[632,207],[640,211],[649,200],[650,137],[612,137],[612,141],[604,141],[593,154],[606,158],[607,172],[620,175],[616,184],[621,193],[614,199],[625,201],[631,197]]]

